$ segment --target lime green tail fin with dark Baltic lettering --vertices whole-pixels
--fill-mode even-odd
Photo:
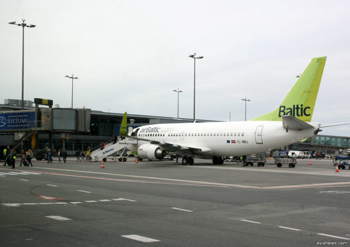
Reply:
[[[251,119],[251,121],[282,121],[283,115],[293,115],[302,121],[310,122],[326,58],[311,59],[279,107],[275,111]]]

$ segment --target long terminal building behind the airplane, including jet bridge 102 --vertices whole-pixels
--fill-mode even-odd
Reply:
[[[15,146],[19,153],[21,149],[27,151],[35,146],[36,149],[61,148],[65,149],[68,155],[73,155],[77,149],[86,151],[88,147],[100,146],[102,142],[111,140],[114,135],[119,135],[123,113],[59,108],[58,105],[52,105],[50,100],[34,99],[34,103],[25,101],[24,110],[21,111],[20,100],[4,100],[4,104],[0,104],[0,151],[6,146]],[[15,120],[19,116],[23,119],[22,123]],[[4,126],[9,119],[12,119],[12,125]],[[128,113],[128,127],[133,128],[148,124],[190,122],[192,119]],[[213,121],[198,119],[196,122]],[[348,148],[350,137],[316,135],[281,149],[323,150],[325,153],[334,154]]]

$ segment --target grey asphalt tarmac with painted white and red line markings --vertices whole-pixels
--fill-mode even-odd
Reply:
[[[0,167],[2,246],[310,246],[350,242],[350,170],[176,161]]]

